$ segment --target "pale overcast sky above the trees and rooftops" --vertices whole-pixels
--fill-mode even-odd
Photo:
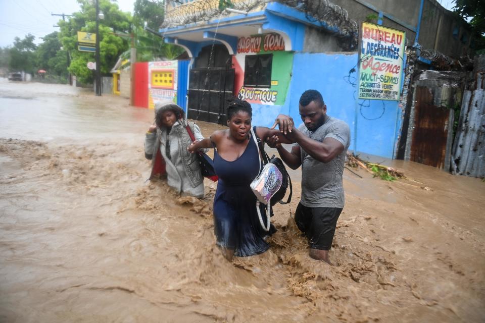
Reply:
[[[388,0],[389,1],[389,0]],[[122,11],[133,13],[134,0],[118,0]],[[438,0],[446,9],[451,10],[453,0]],[[0,46],[12,45],[16,36],[24,38],[28,33],[40,43],[43,37],[59,28],[62,17],[51,14],[71,14],[79,11],[76,0],[0,0]]]

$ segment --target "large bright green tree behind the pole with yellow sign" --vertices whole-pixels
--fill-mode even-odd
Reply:
[[[101,73],[108,75],[118,57],[127,50],[128,41],[116,36],[115,32],[128,32],[131,25],[130,13],[119,10],[118,5],[109,0],[99,0],[100,11],[104,19],[100,20],[100,59]],[[87,69],[87,62],[94,62],[94,53],[79,51],[77,32],[95,32],[96,9],[91,0],[78,0],[80,12],[73,14],[67,21],[59,21],[60,39],[64,49],[71,53],[69,71],[76,75],[81,83],[92,83],[94,73]]]

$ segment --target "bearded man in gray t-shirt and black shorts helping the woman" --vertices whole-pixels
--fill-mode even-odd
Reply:
[[[342,174],[350,129],[342,120],[327,116],[327,106],[316,90],[307,90],[300,97],[298,129],[293,119],[279,115],[273,125],[296,141],[289,152],[270,138],[268,144],[278,149],[281,159],[292,169],[302,166],[302,198],[295,211],[295,222],[310,244],[310,256],[331,264],[331,248],[335,227],[344,208]]]

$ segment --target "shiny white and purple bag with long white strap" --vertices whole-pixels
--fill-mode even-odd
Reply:
[[[253,137],[254,142],[256,143],[256,147],[259,147],[258,141],[256,140],[256,134],[251,128],[251,136]],[[271,217],[271,197],[279,190],[281,187],[281,183],[283,180],[283,175],[278,170],[276,165],[273,163],[267,163],[263,169],[261,170],[261,154],[258,148],[258,156],[259,156],[259,175],[251,182],[251,190],[253,190],[254,194],[258,198],[256,201],[256,210],[258,211],[259,222],[261,223],[261,227],[265,231],[269,231],[270,227],[270,217]],[[259,209],[260,203],[267,205],[266,211],[266,218],[268,219],[268,223],[265,225],[263,223],[263,218],[261,216],[261,211]]]

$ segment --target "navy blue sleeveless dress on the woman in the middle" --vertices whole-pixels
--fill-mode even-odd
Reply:
[[[214,170],[219,176],[214,197],[217,244],[233,249],[234,255],[239,257],[268,250],[269,244],[264,238],[276,232],[273,225],[269,232],[261,228],[256,211],[256,196],[250,187],[259,172],[258,154],[258,147],[252,138],[243,154],[234,161],[223,159],[214,149]],[[264,206],[261,204],[260,210],[266,223]]]

